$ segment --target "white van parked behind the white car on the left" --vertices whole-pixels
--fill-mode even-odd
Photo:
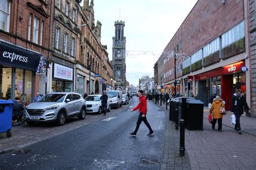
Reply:
[[[118,106],[122,107],[122,91],[103,91],[106,92],[107,96],[110,99],[110,106],[112,108],[118,108]]]

